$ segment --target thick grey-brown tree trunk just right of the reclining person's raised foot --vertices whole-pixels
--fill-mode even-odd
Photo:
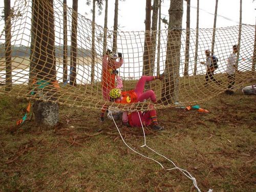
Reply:
[[[170,0],[165,78],[161,93],[161,101],[165,105],[179,101],[182,15],[183,0]]]

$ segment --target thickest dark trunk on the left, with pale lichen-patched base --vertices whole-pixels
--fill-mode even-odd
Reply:
[[[58,122],[58,104],[56,100],[56,89],[52,82],[56,80],[55,59],[55,34],[54,34],[54,12],[53,0],[33,0],[33,15],[35,27],[35,49],[32,61],[36,70],[37,82],[46,81],[49,84],[44,88],[37,88],[36,97],[40,100],[34,102],[33,113],[35,122],[44,129],[52,129]],[[43,101],[47,100],[47,102]]]

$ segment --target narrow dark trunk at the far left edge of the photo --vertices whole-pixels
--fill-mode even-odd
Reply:
[[[12,49],[11,49],[11,1],[5,0],[5,91],[12,89]]]

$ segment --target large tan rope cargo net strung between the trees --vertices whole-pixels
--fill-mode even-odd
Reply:
[[[152,107],[149,104],[152,103],[150,100],[133,103],[131,108],[130,105],[116,104],[104,99],[104,29],[95,25],[93,48],[93,23],[90,19],[72,12],[72,9],[67,7],[67,25],[64,25],[65,17],[61,2],[54,1],[53,5],[47,3],[49,1],[36,2],[39,3],[33,5],[35,9],[32,11],[32,1],[16,1],[9,17],[10,25],[3,28],[0,37],[0,93],[27,99],[50,100],[87,109],[101,109],[103,105],[118,107],[121,110],[148,110]],[[77,16],[77,31],[74,27],[72,30],[72,14],[73,17]],[[63,26],[67,26],[67,47],[63,40]],[[242,25],[241,28],[239,73],[236,73],[234,91],[255,78],[255,66],[253,67],[252,62],[255,26]],[[5,47],[5,40],[8,37],[5,31],[8,30],[11,37]],[[181,38],[180,43],[178,46],[171,46],[168,52],[168,39],[177,31]],[[218,58],[218,68],[214,71],[214,77],[218,82],[209,78],[206,83],[207,67],[201,64],[206,61],[205,50],[211,50],[213,29],[198,30],[198,46],[197,31],[189,30],[187,61],[186,32],[185,29],[165,29],[160,33],[151,33],[151,36],[156,34],[156,39],[160,34],[160,43],[156,40],[154,45],[154,40],[151,40],[147,45],[154,46],[148,46],[145,52],[144,42],[147,34],[144,31],[118,31],[115,52],[117,56],[118,53],[122,53],[123,64],[117,70],[123,80],[123,91],[134,90],[142,75],[157,76],[164,73],[163,80],[145,84],[145,91],[153,90],[156,94],[158,102],[153,103],[155,109],[202,103],[223,93],[228,86],[228,57],[233,51],[232,46],[238,43],[239,26],[216,29],[214,55]],[[113,33],[110,30],[106,31],[105,49],[113,50]],[[72,41],[77,42],[76,50],[72,47]],[[146,60],[147,56],[149,60]],[[119,59],[117,58],[117,61]],[[187,74],[184,75],[184,71]]]

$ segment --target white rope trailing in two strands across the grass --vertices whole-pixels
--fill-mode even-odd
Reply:
[[[152,148],[150,148],[149,146],[147,146],[144,127],[143,127],[143,124],[142,124],[142,121],[141,121],[139,112],[137,111],[137,113],[138,113],[138,116],[139,116],[139,119],[140,119],[141,127],[142,127],[142,130],[143,130],[143,136],[144,136],[144,145],[142,145],[141,147],[146,146],[148,149],[150,149],[151,151],[153,151],[155,154],[157,154],[157,155],[159,155],[159,156],[165,158],[165,159],[168,160],[169,162],[172,162],[175,167],[166,169],[166,168],[164,168],[164,166],[163,166],[159,161],[157,161],[157,160],[155,160],[155,159],[153,159],[153,158],[147,157],[147,156],[145,156],[145,155],[143,155],[143,154],[141,154],[141,153],[135,151],[132,147],[130,147],[130,146],[124,141],[124,139],[123,139],[123,137],[122,137],[122,134],[121,134],[120,130],[118,129],[118,126],[117,126],[117,124],[116,124],[116,122],[115,122],[115,119],[113,118],[112,113],[111,113],[111,117],[112,117],[112,119],[113,119],[113,121],[114,121],[114,123],[115,123],[115,125],[116,125],[116,128],[117,128],[117,130],[118,130],[118,133],[119,133],[119,135],[121,136],[121,139],[122,139],[122,141],[124,142],[124,144],[125,144],[127,147],[129,147],[130,150],[132,150],[133,152],[135,152],[135,153],[141,155],[142,157],[145,157],[145,158],[147,158],[147,159],[151,159],[151,160],[157,162],[163,169],[166,169],[166,170],[178,169],[178,170],[180,170],[187,178],[189,178],[189,179],[191,179],[191,180],[193,181],[193,184],[194,184],[194,186],[196,187],[196,189],[198,190],[198,192],[201,192],[201,190],[200,190],[199,187],[197,186],[197,180],[196,180],[196,178],[193,177],[187,170],[178,167],[172,160],[170,160],[170,159],[168,159],[167,157],[165,157],[165,156],[159,154],[158,152],[156,152],[155,150],[153,150]],[[212,189],[209,189],[207,192],[212,192]]]

